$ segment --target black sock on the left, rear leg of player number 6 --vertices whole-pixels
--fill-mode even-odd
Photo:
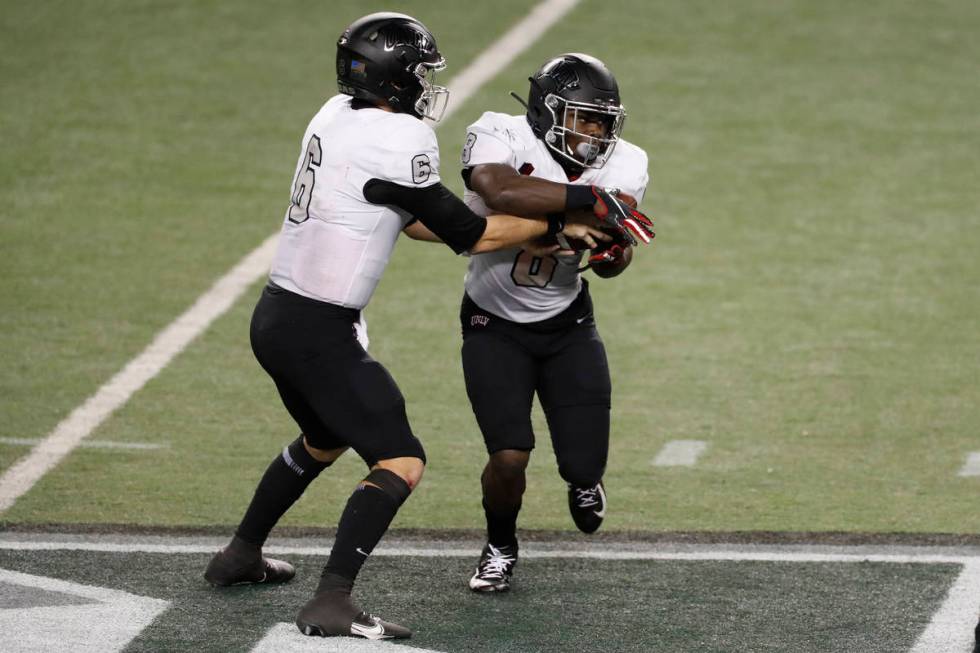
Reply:
[[[303,436],[299,436],[265,470],[235,534],[250,544],[262,546],[279,518],[329,466],[330,463],[313,458],[303,446]]]

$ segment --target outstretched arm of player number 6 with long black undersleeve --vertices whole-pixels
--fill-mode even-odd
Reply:
[[[364,197],[372,204],[396,206],[417,218],[432,236],[457,254],[473,254],[516,247],[548,233],[565,233],[575,238],[606,240],[600,230],[587,225],[565,224],[559,218],[526,220],[511,215],[474,213],[461,199],[441,183],[424,188],[408,187],[382,179],[371,179],[364,185]],[[421,239],[428,234],[413,230]],[[411,234],[410,234],[411,235]]]

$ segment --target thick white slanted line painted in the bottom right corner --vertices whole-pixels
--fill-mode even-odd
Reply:
[[[980,560],[967,562],[911,653],[969,653],[980,603]],[[964,627],[966,626],[966,627]]]

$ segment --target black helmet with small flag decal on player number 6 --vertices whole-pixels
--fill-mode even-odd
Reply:
[[[337,86],[362,100],[384,100],[399,113],[439,120],[449,91],[436,86],[446,67],[435,37],[405,14],[381,12],[359,18],[337,41]]]

